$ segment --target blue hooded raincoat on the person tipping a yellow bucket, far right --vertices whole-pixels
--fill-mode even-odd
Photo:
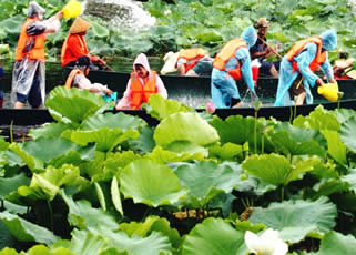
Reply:
[[[333,30],[328,30],[321,34],[323,44],[322,47],[325,50],[333,50],[337,47],[336,33]],[[294,61],[297,62],[298,69],[303,75],[303,84],[306,91],[306,103],[313,103],[313,94],[311,92],[311,86],[315,85],[315,81],[318,76],[312,72],[309,64],[315,59],[317,54],[317,45],[313,42],[307,43],[304,49],[294,57]],[[330,81],[334,79],[333,68],[328,61],[328,54],[326,52],[326,59],[324,63],[321,64],[321,69],[326,75],[327,80]],[[298,72],[293,70],[292,62],[289,62],[286,57],[283,58],[281,68],[279,68],[279,80],[275,106],[288,106],[293,105],[294,101],[291,100],[288,90],[292,86],[293,82],[297,78]]]

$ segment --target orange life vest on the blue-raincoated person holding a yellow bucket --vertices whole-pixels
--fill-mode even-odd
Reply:
[[[315,70],[318,69],[318,67],[325,62],[326,60],[326,51],[322,52],[322,38],[321,37],[312,37],[312,38],[307,38],[304,39],[302,41],[298,41],[297,43],[295,43],[292,49],[287,52],[286,54],[286,59],[291,62],[293,62],[293,70],[296,70],[299,72],[298,69],[298,64],[297,62],[294,61],[294,57],[296,57],[298,53],[301,53],[301,51],[304,49],[304,47],[309,43],[313,42],[317,45],[317,52],[316,52],[316,57],[314,58],[314,60],[312,61],[312,63],[309,64],[309,69],[314,72]]]

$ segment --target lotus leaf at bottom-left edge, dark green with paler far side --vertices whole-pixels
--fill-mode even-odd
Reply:
[[[12,236],[20,242],[37,242],[51,245],[59,239],[47,228],[30,223],[8,212],[0,213],[0,218],[8,227]]]

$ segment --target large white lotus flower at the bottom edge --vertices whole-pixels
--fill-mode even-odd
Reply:
[[[261,236],[247,231],[245,243],[248,251],[255,255],[285,255],[288,252],[288,245],[279,238],[278,232],[272,228],[265,231]]]

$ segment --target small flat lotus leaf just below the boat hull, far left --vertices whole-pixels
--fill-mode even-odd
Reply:
[[[33,137],[33,140],[37,139],[59,139],[63,131],[71,129],[72,126],[70,124],[65,123],[45,123],[43,126],[38,129],[31,129],[29,132],[29,135]]]

